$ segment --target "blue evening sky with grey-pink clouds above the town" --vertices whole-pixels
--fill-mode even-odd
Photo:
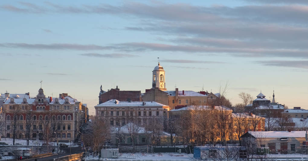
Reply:
[[[308,1],[0,1],[0,93],[68,93],[95,114],[99,87],[262,91],[308,109]],[[157,59],[159,57],[159,60]],[[40,81],[43,81],[42,84]]]

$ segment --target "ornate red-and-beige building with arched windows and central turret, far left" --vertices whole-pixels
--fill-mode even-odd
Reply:
[[[8,95],[2,109],[6,119],[2,133],[7,138],[14,137],[15,133],[16,139],[27,135],[28,139],[48,137],[50,141],[56,138],[74,141],[83,123],[82,103],[70,96],[46,98],[42,88],[31,99],[10,98]]]

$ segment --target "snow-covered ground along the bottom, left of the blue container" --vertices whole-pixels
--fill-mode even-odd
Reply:
[[[87,157],[86,160],[98,159],[96,157]],[[193,154],[186,153],[155,153],[155,154],[147,154],[147,153],[120,153],[120,157],[118,159],[108,159],[108,160],[192,160]],[[102,159],[101,160],[106,160]]]

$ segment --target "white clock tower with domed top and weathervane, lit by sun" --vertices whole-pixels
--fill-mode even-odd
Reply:
[[[167,91],[165,80],[165,70],[162,66],[160,66],[160,63],[158,62],[158,66],[155,66],[153,70],[152,89],[159,88],[161,91]]]

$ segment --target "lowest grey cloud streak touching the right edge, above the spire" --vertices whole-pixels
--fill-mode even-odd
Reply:
[[[308,69],[308,60],[296,60],[296,61],[287,61],[287,60],[272,60],[272,61],[256,61],[266,66],[283,66],[283,67],[294,67],[294,68],[303,68]]]

